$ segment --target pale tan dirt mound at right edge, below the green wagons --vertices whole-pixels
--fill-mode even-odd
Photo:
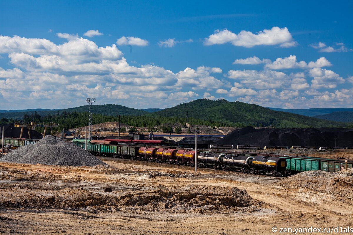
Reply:
[[[277,186],[299,189],[301,192],[327,194],[353,204],[353,168],[339,172],[306,171],[284,178]]]

